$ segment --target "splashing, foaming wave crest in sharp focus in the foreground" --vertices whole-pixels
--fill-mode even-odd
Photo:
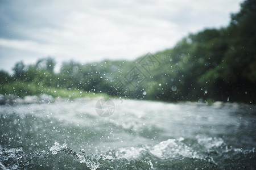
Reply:
[[[237,163],[250,161],[247,168],[253,169],[255,148],[243,150],[227,146],[221,138],[199,138],[197,150],[186,144],[188,139],[168,139],[154,146],[124,147],[106,152],[86,153],[55,142],[49,150],[29,154],[23,148],[2,148],[0,146],[0,167],[2,169],[236,169]],[[232,162],[232,164],[230,164]]]

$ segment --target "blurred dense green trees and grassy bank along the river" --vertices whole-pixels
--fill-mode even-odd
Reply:
[[[174,48],[135,61],[64,62],[55,73],[53,58],[0,71],[0,94],[75,97],[102,93],[164,101],[256,102],[256,1],[241,3],[225,28],[188,35]],[[80,95],[83,94],[83,95]],[[72,95],[68,95],[72,97]]]

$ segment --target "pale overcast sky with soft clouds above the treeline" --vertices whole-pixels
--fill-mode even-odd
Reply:
[[[132,60],[226,27],[241,0],[0,0],[0,70],[51,56],[88,63]]]

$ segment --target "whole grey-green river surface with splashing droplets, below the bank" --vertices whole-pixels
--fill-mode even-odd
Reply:
[[[0,106],[0,169],[256,168],[254,105],[112,101]]]

